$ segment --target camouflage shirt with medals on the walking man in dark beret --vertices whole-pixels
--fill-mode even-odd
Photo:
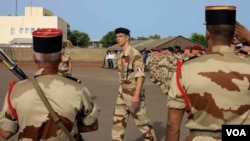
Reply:
[[[131,46],[121,52],[117,65],[119,79],[124,88],[135,88],[136,78],[145,76],[142,55]]]

